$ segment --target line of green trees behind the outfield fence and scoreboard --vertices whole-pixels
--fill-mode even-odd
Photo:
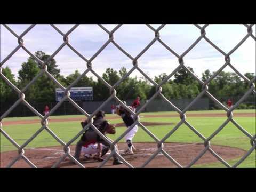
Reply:
[[[35,53],[36,57],[42,61],[49,59],[50,55],[42,51]],[[20,90],[23,89],[41,70],[42,66],[32,57],[29,57],[27,62],[23,62],[21,69],[18,71],[18,79],[14,78],[9,67],[3,68],[3,74]],[[192,72],[193,69],[188,67]],[[63,86],[67,87],[75,79],[80,76],[78,70],[64,77],[60,74],[57,62],[51,59],[47,63],[47,71],[56,78]],[[114,85],[127,73],[126,68],[122,67],[119,71],[112,68],[107,68],[102,78],[110,85]],[[201,80],[206,81],[210,78],[210,70],[204,71]],[[254,73],[245,73],[247,78],[252,79]],[[160,83],[167,77],[166,73],[155,76],[154,81]],[[18,99],[18,94],[0,78],[0,97],[1,103],[14,103]],[[92,77],[84,76],[77,82],[74,87],[93,87],[94,101],[106,100],[109,96],[109,90],[105,84],[99,79],[94,81]],[[26,100],[34,103],[50,103],[55,102],[55,88],[58,86],[45,74],[37,79],[37,81],[26,90]],[[209,92],[216,98],[220,97],[236,97],[242,96],[249,89],[249,85],[243,81],[236,73],[221,71],[209,84]],[[156,87],[151,85],[148,79],[138,77],[127,77],[121,84],[116,87],[117,97],[122,100],[135,99],[138,95],[141,100],[147,100],[154,95]],[[169,79],[162,85],[162,93],[167,99],[189,99],[195,98],[202,91],[202,85],[199,84],[185,69],[180,69],[174,79]]]

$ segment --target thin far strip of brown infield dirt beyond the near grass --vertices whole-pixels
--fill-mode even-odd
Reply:
[[[187,117],[227,117],[226,114],[186,114]],[[169,115],[145,115],[141,118],[155,118],[155,117],[179,117],[179,114]],[[234,117],[255,117],[255,113],[237,113]],[[70,121],[84,121],[85,118],[66,118],[66,119],[50,119],[49,122],[70,122]],[[107,119],[120,119],[118,116],[107,117]],[[23,121],[4,121],[3,125],[19,125],[19,124],[34,124],[40,123],[40,119],[23,120]]]

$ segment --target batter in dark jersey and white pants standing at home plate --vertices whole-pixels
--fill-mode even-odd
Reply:
[[[126,105],[126,102],[124,101],[125,105]],[[131,106],[128,106],[131,110],[132,110],[132,107]],[[133,115],[129,113],[129,111],[127,111],[126,109],[124,109],[121,105],[118,105],[116,107],[116,114],[121,116],[121,118],[123,119],[124,121],[124,124],[126,125],[126,127],[129,129],[130,126],[134,123],[134,118],[133,118]],[[124,152],[123,155],[133,155],[133,150],[136,151],[136,148],[133,146],[132,144],[132,139],[135,135],[135,133],[137,133],[138,131],[138,126],[135,125],[131,130],[130,132],[128,132],[126,135],[125,135],[125,139],[126,139],[126,143],[128,145],[128,149]]]

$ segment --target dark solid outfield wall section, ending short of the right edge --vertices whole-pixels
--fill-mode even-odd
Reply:
[[[170,100],[172,103],[174,103],[175,106],[177,106],[180,109],[185,108],[193,99],[172,99]],[[97,110],[98,107],[102,105],[104,101],[76,101],[77,105],[83,110],[85,110],[87,113],[93,113],[94,110]],[[126,100],[127,105],[132,104],[133,100]],[[146,101],[141,101],[141,106],[143,106],[146,103]],[[4,103],[5,104],[5,103]],[[7,104],[7,105],[6,105]],[[0,109],[0,115],[4,114],[7,109],[11,107],[11,105],[8,105],[9,103],[6,103],[5,105],[1,105]],[[33,106],[39,113],[44,114],[44,107],[47,105],[52,109],[55,105],[57,105],[58,102],[52,102],[52,103],[30,103],[31,106]],[[105,113],[111,113],[111,105],[118,105],[118,103],[115,100],[109,101],[105,106],[103,106],[101,109],[105,111]],[[255,103],[254,103],[255,104]],[[137,109],[140,109],[141,106],[139,106]],[[209,110],[209,99],[208,98],[200,98],[198,102],[194,104],[190,108],[190,110]],[[149,106],[147,106],[143,112],[157,112],[157,111],[174,111],[174,109],[166,105],[166,103],[163,100],[155,99],[152,101]],[[78,115],[81,114],[79,110],[77,110],[70,102],[63,102],[62,105],[54,111],[52,115]],[[17,107],[15,107],[15,110],[12,110],[11,113],[8,115],[8,117],[30,117],[35,116],[35,114],[26,106],[20,104]]]

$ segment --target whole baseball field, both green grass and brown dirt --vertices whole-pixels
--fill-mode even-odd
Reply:
[[[226,121],[225,111],[188,111],[186,113],[187,121],[195,127],[205,138],[209,137],[219,126]],[[49,120],[50,129],[58,137],[68,142],[79,131],[81,131],[80,122],[85,118],[83,115],[70,116],[51,116]],[[248,133],[255,135],[255,110],[235,110],[235,121],[241,125]],[[106,119],[112,124],[118,124],[115,135],[108,135],[115,140],[121,135],[126,127],[122,125],[122,119],[116,114],[107,114]],[[162,139],[169,133],[180,121],[179,114],[173,111],[158,113],[141,113],[140,121],[146,125],[147,129]],[[39,117],[13,117],[4,118],[2,121],[3,130],[10,135],[19,145],[22,145],[39,128],[41,123]],[[1,139],[1,167],[5,167],[12,159],[18,155],[15,148],[3,134]],[[79,138],[78,138],[79,139]],[[77,140],[78,140],[77,139]],[[72,145],[76,144],[76,141]],[[119,149],[125,149],[125,140],[118,143]],[[133,156],[124,157],[132,165],[140,166],[156,150],[156,143],[145,131],[139,127],[137,134],[133,139],[137,152]],[[203,149],[203,140],[199,138],[189,127],[182,124],[164,144],[164,149],[182,166],[190,163]],[[252,146],[250,139],[241,132],[233,123],[229,122],[215,137],[211,140],[212,149],[230,165],[234,165]],[[74,146],[71,146],[71,153],[74,153]],[[25,148],[25,155],[38,167],[51,167],[54,162],[63,154],[63,147],[47,131],[43,130],[34,140]],[[58,156],[59,155],[59,156]],[[238,167],[256,167],[255,150]],[[13,167],[28,167],[20,160]],[[67,160],[61,164],[62,167],[78,167],[71,165]],[[99,162],[84,162],[85,167],[97,166]],[[112,167],[109,161],[106,167]],[[126,167],[118,165],[115,167]],[[175,167],[166,157],[159,154],[146,167]],[[192,167],[226,167],[218,161],[212,154],[207,152]]]

